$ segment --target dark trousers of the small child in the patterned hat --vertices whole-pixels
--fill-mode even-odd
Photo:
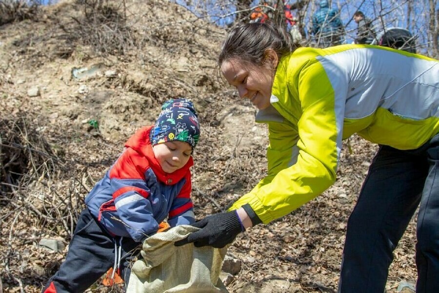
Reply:
[[[113,267],[115,259],[115,240],[119,248],[120,237],[113,238],[103,230],[88,209],[80,214],[69,251],[60,270],[47,282],[43,293],[84,292],[102,274]],[[128,282],[130,259],[139,250],[140,243],[132,238],[122,238],[121,277]]]

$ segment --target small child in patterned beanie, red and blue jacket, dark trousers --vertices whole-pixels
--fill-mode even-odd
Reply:
[[[136,248],[161,221],[168,218],[171,227],[194,223],[189,168],[199,137],[192,102],[165,102],[156,124],[126,142],[85,198],[66,259],[42,292],[84,292],[113,265],[127,282]]]

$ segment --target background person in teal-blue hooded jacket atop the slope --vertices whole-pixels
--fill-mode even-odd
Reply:
[[[321,0],[313,15],[312,33],[319,48],[339,45],[344,39],[344,26],[339,11],[329,8],[328,0]]]

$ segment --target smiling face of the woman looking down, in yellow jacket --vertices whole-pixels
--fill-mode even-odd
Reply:
[[[270,105],[271,87],[278,63],[277,55],[266,58],[262,65],[238,59],[224,61],[221,72],[227,82],[238,89],[239,97],[249,99],[259,110]],[[275,60],[274,60],[275,59]]]

